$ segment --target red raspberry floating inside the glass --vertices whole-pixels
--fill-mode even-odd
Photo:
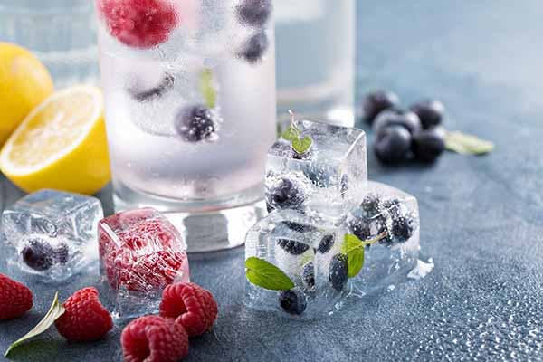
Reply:
[[[178,17],[165,0],[101,0],[98,9],[119,42],[147,49],[167,41]]]

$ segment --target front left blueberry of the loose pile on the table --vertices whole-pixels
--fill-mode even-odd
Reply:
[[[411,142],[411,134],[405,127],[388,126],[377,133],[374,151],[381,162],[396,164],[408,157]]]

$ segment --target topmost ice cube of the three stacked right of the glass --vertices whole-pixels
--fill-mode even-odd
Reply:
[[[360,129],[294,121],[312,145],[304,154],[278,139],[268,152],[269,210],[297,209],[338,219],[357,207],[367,186],[366,135]]]

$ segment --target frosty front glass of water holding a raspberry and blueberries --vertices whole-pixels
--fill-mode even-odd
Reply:
[[[95,0],[116,209],[243,243],[276,138],[271,0]]]

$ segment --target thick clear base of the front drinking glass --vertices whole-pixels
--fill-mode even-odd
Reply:
[[[267,214],[262,185],[214,200],[173,200],[117,187],[115,211],[153,207],[176,226],[188,252],[217,252],[245,243],[245,234]]]

